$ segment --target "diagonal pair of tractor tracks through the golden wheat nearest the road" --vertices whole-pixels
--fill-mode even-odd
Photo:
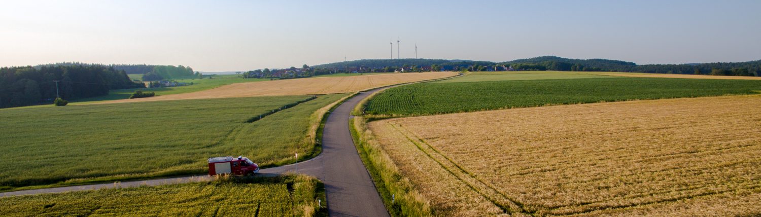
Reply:
[[[420,150],[420,152],[423,152],[426,156],[428,156],[428,158],[431,158],[431,160],[436,161],[436,163],[438,163],[441,168],[452,174],[455,178],[457,178],[457,180],[465,183],[468,187],[476,191],[476,193],[479,193],[481,196],[489,200],[489,202],[492,202],[495,206],[498,206],[500,209],[502,209],[503,212],[507,214],[511,214],[513,212],[530,214],[530,212],[527,212],[527,210],[524,208],[522,203],[512,199],[510,196],[507,196],[504,193],[499,192],[494,187],[474,177],[473,174],[461,168],[460,165],[454,163],[454,161],[452,161],[450,158],[447,158],[446,155],[438,152],[438,150],[420,139],[418,136],[412,134],[412,132],[403,126],[400,125],[399,128],[397,128],[395,125],[391,123],[389,124],[393,129],[396,130],[396,132],[399,132],[409,142],[412,142],[412,144],[415,145]],[[403,131],[406,131],[409,134]],[[410,138],[410,136],[414,137],[415,139]],[[419,142],[416,142],[415,140],[418,140]],[[421,143],[425,144],[425,147],[423,147]],[[435,154],[426,152],[426,149],[430,149],[431,151],[435,152]],[[438,155],[438,158],[434,155]],[[441,158],[444,159],[442,160]],[[446,164],[448,164],[448,166]]]

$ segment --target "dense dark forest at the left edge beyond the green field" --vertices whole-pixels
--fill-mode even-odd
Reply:
[[[0,107],[51,103],[56,94],[65,99],[97,97],[123,88],[145,88],[145,84],[132,82],[123,70],[105,65],[0,68]]]

